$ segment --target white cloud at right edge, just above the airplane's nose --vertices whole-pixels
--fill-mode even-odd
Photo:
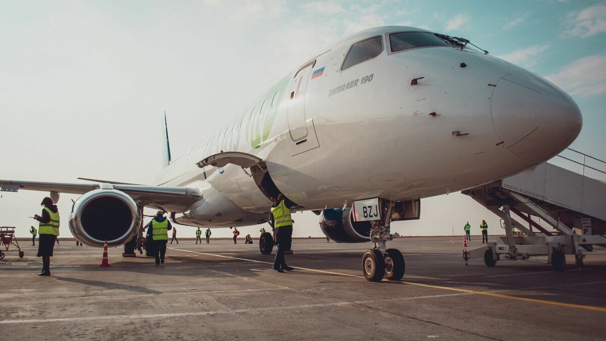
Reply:
[[[606,93],[606,55],[594,55],[576,59],[553,75],[548,81],[571,95],[588,97]]]

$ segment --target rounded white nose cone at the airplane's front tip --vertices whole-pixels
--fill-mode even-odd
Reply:
[[[491,98],[494,129],[525,160],[542,162],[564,150],[581,132],[579,107],[567,93],[531,73],[499,79]]]

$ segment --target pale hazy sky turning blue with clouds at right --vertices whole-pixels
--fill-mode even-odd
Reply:
[[[583,128],[570,147],[606,160],[605,1],[5,0],[0,179],[151,183],[161,170],[164,110],[175,157],[323,47],[382,25],[466,38],[547,78],[581,109]],[[0,226],[27,237],[44,192],[0,194]],[[72,237],[67,218],[77,198],[61,195],[61,237]],[[322,235],[315,215],[294,218],[295,237]],[[461,235],[470,221],[479,234],[482,219],[498,233],[496,215],[453,193],[422,200],[421,220],[393,223],[392,231]],[[229,234],[216,229],[213,237]]]

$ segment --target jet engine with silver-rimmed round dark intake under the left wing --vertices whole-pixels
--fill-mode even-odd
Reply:
[[[73,204],[70,231],[89,246],[119,246],[132,240],[141,224],[135,200],[115,189],[90,191]]]

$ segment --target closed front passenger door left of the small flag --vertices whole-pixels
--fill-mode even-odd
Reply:
[[[309,81],[311,69],[315,64],[315,60],[305,64],[295,74],[293,81],[290,84],[290,92],[288,95],[287,116],[288,130],[290,138],[294,142],[298,142],[307,138],[307,123],[305,122],[305,90],[307,89],[307,81]]]

